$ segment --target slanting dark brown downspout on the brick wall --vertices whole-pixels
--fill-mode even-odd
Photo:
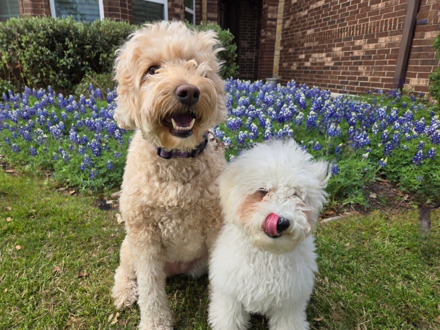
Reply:
[[[414,38],[414,29],[420,0],[408,0],[405,21],[403,23],[402,40],[400,41],[399,54],[397,55],[396,72],[394,73],[394,87],[403,88],[408,58],[411,52],[411,43]]]

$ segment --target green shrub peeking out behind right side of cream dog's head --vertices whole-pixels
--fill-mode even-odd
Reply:
[[[220,25],[216,23],[203,23],[199,25],[191,25],[188,22],[186,24],[196,31],[207,31],[213,30],[219,36],[221,46],[224,48],[219,53],[219,59],[223,62],[223,66],[220,69],[220,76],[223,79],[227,78],[237,78],[238,77],[238,65],[236,62],[237,58],[237,44],[234,42],[234,35],[227,30],[221,29]]]

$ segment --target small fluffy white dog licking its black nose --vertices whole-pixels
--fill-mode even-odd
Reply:
[[[209,324],[246,329],[249,312],[270,329],[308,329],[317,271],[312,231],[326,202],[328,164],[294,140],[269,141],[220,175],[225,224],[209,261]]]

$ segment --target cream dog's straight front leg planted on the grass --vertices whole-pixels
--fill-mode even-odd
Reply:
[[[135,258],[141,330],[173,329],[173,313],[165,292],[165,262],[159,246],[138,246]]]

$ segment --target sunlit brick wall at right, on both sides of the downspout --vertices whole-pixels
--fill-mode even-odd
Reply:
[[[337,92],[394,88],[407,1],[310,2],[285,3],[281,81],[295,79]],[[437,0],[420,1],[418,19],[429,19],[416,27],[405,88],[427,91],[427,76],[439,65],[432,49],[439,29],[438,9]]]

